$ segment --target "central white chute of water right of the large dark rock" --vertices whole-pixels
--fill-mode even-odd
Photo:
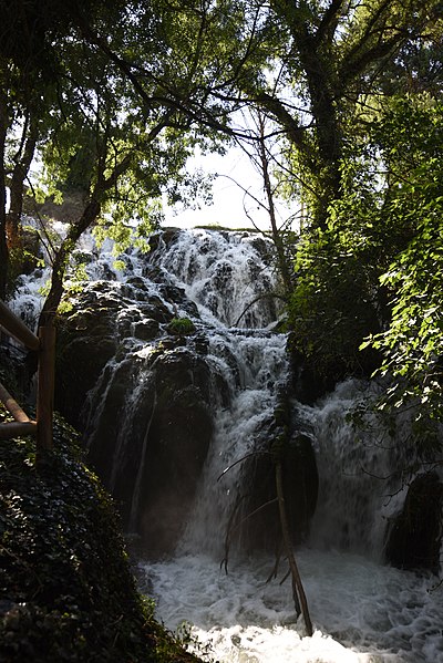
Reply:
[[[241,377],[229,407],[220,408],[215,415],[210,454],[193,517],[181,542],[182,552],[200,550],[222,559],[235,500],[241,485],[248,481],[241,460],[257,452],[259,431],[272,416],[278,383],[287,379],[285,342],[282,335],[235,335],[231,352]],[[218,343],[216,339],[214,352]],[[231,369],[224,366],[224,370],[229,375]]]

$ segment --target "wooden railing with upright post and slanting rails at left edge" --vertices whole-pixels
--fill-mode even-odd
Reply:
[[[37,453],[39,454],[44,449],[52,448],[55,329],[40,327],[37,336],[1,300],[0,325],[9,336],[14,338],[28,350],[35,351],[39,360],[37,421],[32,421],[0,384],[0,401],[14,418],[13,422],[0,424],[0,439],[8,439],[17,435],[35,435]]]

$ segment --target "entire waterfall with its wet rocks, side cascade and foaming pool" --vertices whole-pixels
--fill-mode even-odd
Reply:
[[[290,580],[280,582],[285,561],[267,581],[272,553],[245,553],[237,541],[228,573],[220,567],[249,480],[243,459],[262,450],[257,441],[289,379],[286,338],[271,331],[278,305],[266,247],[249,234],[166,230],[150,256],[125,257],[125,276],[103,253],[89,268],[100,280],[85,297],[109,313],[111,349],[82,421],[93,457],[107,458],[103,475],[126,505],[128,529],[145,524],[162,542],[140,561],[141,586],[166,625],[186,620],[200,651],[224,663],[443,662],[437,580],[381,563],[387,518],[404,494],[377,478],[392,474],[391,450],[370,434],[356,442],[347,422],[368,385],[341,384],[315,406],[291,402],[320,478],[310,538],[296,551],[313,636],[297,619]],[[194,332],[172,341],[166,332],[183,318]]]

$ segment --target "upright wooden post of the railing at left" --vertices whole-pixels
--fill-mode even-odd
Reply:
[[[54,410],[55,329],[40,327],[39,375],[37,392],[37,453],[52,449]]]

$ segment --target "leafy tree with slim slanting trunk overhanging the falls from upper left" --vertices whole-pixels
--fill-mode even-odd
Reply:
[[[17,125],[29,134],[22,146],[17,147],[16,141],[17,177],[12,179],[18,183],[18,195],[10,228],[19,227],[32,147],[38,146],[43,163],[41,195],[61,200],[66,187],[75,185],[84,200],[52,257],[51,290],[42,313],[47,322],[59,305],[70,252],[85,229],[97,221],[111,225],[112,236],[122,245],[131,236],[125,224],[131,216],[138,219],[136,235],[155,224],[155,208],[165,190],[172,199],[185,196],[186,190],[198,191],[198,180],[185,168],[187,157],[197,143],[203,149],[209,144],[220,148],[216,132],[229,133],[225,104],[210,99],[209,91],[217,84],[233,85],[251,42],[246,53],[237,48],[246,11],[241,2],[184,7],[156,0],[148,6],[115,3],[112,10],[101,2],[85,8],[74,3],[61,30],[52,22],[60,9],[56,0],[20,7],[37,17],[37,42],[45,48],[51,75],[49,83],[39,80],[42,68],[37,56],[32,60],[33,41],[28,59],[9,41],[2,53],[3,72],[11,80],[17,73],[9,89],[23,101],[4,113],[4,144]],[[22,22],[19,27],[23,28]],[[23,72],[30,61],[33,86],[25,87]],[[2,182],[4,191],[4,177]],[[3,216],[0,248],[7,253]],[[7,281],[6,271],[2,281]]]

